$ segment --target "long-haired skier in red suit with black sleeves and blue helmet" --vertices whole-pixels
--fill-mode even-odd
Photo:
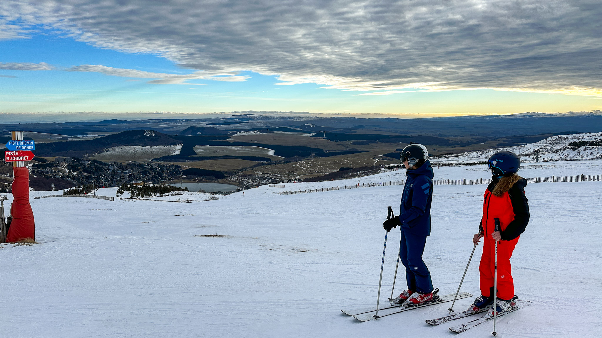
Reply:
[[[488,165],[493,182],[489,183],[485,191],[479,233],[473,236],[474,245],[485,237],[479,265],[481,295],[468,310],[479,311],[494,303],[494,248],[495,241],[499,241],[496,311],[500,313],[514,306],[510,257],[519,236],[529,223],[529,204],[524,191],[527,180],[517,175],[521,160],[516,154],[497,152],[489,158]],[[495,219],[499,220],[501,232],[495,231]],[[493,313],[493,309],[489,312]]]

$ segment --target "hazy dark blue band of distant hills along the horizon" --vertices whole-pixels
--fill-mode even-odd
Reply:
[[[397,134],[434,137],[500,138],[508,135],[536,135],[557,132],[600,132],[602,112],[544,114],[526,112],[514,115],[486,115],[433,118],[358,118],[240,114],[211,118],[153,118],[145,120],[102,120],[65,123],[0,124],[0,132],[14,130],[58,135],[90,132],[122,132],[152,129],[167,135],[226,135],[276,128],[288,132],[333,132],[337,134]],[[223,134],[221,134],[223,133]]]

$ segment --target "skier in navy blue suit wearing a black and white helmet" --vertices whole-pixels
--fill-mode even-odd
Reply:
[[[405,147],[401,159],[407,168],[408,179],[403,186],[400,215],[385,221],[383,227],[389,231],[399,225],[402,230],[399,254],[406,267],[408,290],[393,301],[408,307],[435,299],[430,272],[422,260],[426,236],[430,236],[433,168],[430,166],[429,152],[422,144]]]

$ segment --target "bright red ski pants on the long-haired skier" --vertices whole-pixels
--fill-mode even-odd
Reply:
[[[512,241],[499,241],[497,244],[497,297],[501,300],[511,300],[514,297],[514,280],[510,257],[517,245],[518,237]],[[494,284],[495,241],[483,238],[483,256],[479,265],[481,294],[491,297]]]

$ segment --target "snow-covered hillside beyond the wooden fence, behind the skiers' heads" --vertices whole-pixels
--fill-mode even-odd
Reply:
[[[566,161],[577,159],[600,159],[602,158],[602,147],[582,146],[577,149],[569,147],[574,141],[597,141],[602,140],[602,132],[558,135],[548,137],[537,143],[525,144],[524,146],[506,147],[500,149],[481,150],[479,152],[468,152],[456,155],[433,158],[433,162],[439,163],[470,163],[487,161],[489,156],[501,150],[513,152],[521,156],[523,162],[535,162],[533,150],[539,150],[539,161]]]

